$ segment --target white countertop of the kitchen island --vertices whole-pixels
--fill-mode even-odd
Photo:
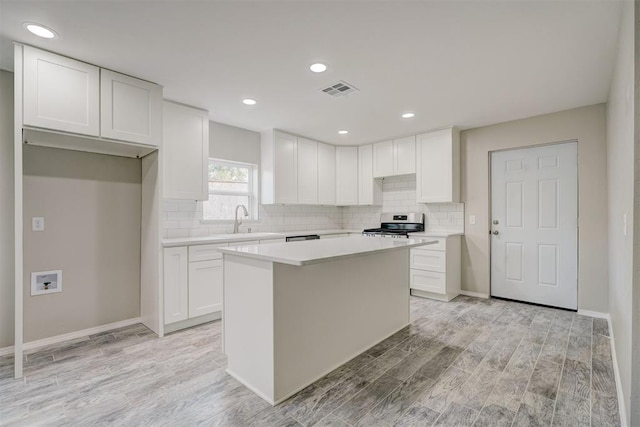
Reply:
[[[423,237],[424,239],[424,237]],[[436,240],[392,239],[379,237],[341,237],[326,240],[221,247],[223,254],[263,261],[303,266],[389,250],[407,249],[437,243]]]

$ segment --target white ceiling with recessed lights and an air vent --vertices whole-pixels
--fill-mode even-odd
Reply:
[[[619,1],[0,0],[11,40],[160,83],[211,120],[362,144],[604,102]],[[39,39],[35,21],[60,37]],[[316,61],[329,69],[314,74]],[[320,92],[345,80],[360,89]],[[258,101],[253,107],[242,98]],[[416,117],[401,119],[404,111]],[[338,135],[348,129],[349,135]]]

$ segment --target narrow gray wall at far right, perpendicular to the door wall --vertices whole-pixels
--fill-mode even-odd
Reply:
[[[618,56],[607,104],[607,169],[609,192],[609,313],[616,357],[629,419],[633,291],[633,3],[625,2]],[[631,92],[632,93],[632,92]],[[627,233],[624,234],[624,217]]]

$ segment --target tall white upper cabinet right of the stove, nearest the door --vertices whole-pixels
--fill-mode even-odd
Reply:
[[[416,138],[417,202],[459,202],[460,133],[448,128]]]

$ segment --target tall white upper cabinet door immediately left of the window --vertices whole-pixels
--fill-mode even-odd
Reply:
[[[162,152],[164,198],[207,200],[209,113],[165,101]]]

